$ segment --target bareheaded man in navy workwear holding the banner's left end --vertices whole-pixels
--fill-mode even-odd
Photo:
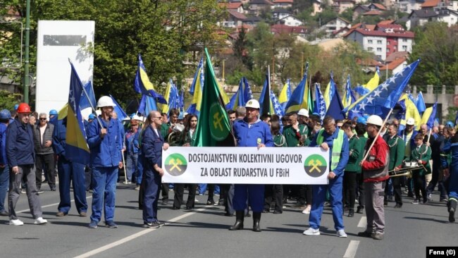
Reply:
[[[159,111],[151,111],[141,132],[141,160],[144,168],[143,189],[143,226],[159,228],[164,223],[157,219],[157,202],[161,191],[163,176],[162,149],[168,149],[161,135],[162,116]],[[195,190],[194,190],[195,191]]]

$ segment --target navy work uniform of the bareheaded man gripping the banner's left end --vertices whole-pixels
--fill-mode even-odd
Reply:
[[[157,219],[157,202],[161,191],[161,176],[154,165],[162,166],[163,137],[160,129],[157,133],[151,126],[142,131],[141,160],[144,169],[143,188],[143,221],[151,223]]]

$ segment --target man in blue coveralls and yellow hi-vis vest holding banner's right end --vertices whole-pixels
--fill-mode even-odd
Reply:
[[[310,146],[319,146],[324,151],[329,150],[329,185],[312,186],[313,199],[309,216],[310,228],[304,231],[304,235],[320,235],[323,203],[326,199],[326,190],[329,190],[330,207],[333,209],[335,230],[337,231],[338,237],[347,238],[342,218],[342,182],[349,156],[348,137],[343,130],[335,126],[334,118],[326,116],[323,119],[323,128],[315,135]]]

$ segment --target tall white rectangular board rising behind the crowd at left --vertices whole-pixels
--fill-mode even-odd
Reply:
[[[68,102],[70,59],[82,84],[92,81],[93,20],[39,20],[37,39],[36,106],[38,113],[59,111]]]

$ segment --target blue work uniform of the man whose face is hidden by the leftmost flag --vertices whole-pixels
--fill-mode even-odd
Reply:
[[[58,155],[59,196],[58,211],[68,214],[71,207],[70,181],[73,183],[73,197],[78,213],[87,211],[85,164],[69,161],[66,157],[67,118],[58,120],[54,126],[52,147]]]

